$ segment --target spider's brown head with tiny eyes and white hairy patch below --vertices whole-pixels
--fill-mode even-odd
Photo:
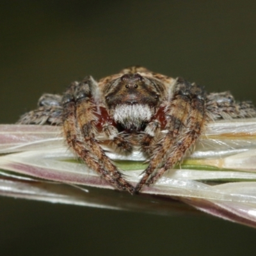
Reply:
[[[111,81],[104,90],[110,115],[125,129],[140,130],[161,103],[161,86],[156,79],[138,73],[127,73]]]

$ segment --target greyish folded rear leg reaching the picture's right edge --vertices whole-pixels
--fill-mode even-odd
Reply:
[[[207,95],[206,108],[211,113],[212,120],[256,116],[252,102],[236,102],[230,92],[210,93]]]

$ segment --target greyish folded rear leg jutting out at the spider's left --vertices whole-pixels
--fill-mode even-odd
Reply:
[[[56,124],[62,123],[60,95],[44,94],[38,100],[38,108],[20,116],[17,124]]]

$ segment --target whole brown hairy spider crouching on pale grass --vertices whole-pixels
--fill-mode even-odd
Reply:
[[[38,108],[18,123],[63,125],[77,156],[116,189],[134,194],[179,163],[211,120],[253,116],[252,103],[236,102],[230,92],[207,94],[181,77],[129,67],[99,82],[87,76],[71,83],[63,95],[42,95]],[[97,140],[102,133],[127,154],[139,146],[148,155],[136,187],[106,156]]]

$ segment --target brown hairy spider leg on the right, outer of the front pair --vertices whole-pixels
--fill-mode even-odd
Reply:
[[[173,168],[204,131],[205,125],[209,122],[208,111],[205,108],[205,96],[202,88],[195,84],[191,87],[191,102],[189,102],[190,110],[186,129],[180,134],[179,140],[172,148],[163,166],[147,180],[147,185],[156,182],[164,172]]]

